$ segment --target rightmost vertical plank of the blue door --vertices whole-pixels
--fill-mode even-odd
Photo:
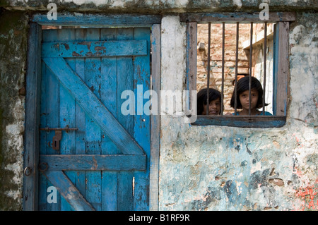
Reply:
[[[151,48],[151,33],[149,28],[135,28],[134,39],[146,39],[147,49]],[[143,99],[145,92],[151,90],[150,51],[147,56],[135,56],[134,60],[134,93],[136,96],[136,115],[134,116],[134,139],[141,145],[147,156],[147,168],[150,161],[150,111],[143,109],[148,106]],[[142,89],[141,89],[142,87]],[[148,97],[148,96],[146,96]],[[134,210],[149,210],[149,169],[145,171],[134,171]]]

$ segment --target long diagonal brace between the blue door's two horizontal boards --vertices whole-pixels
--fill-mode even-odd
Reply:
[[[83,83],[83,80],[69,68],[64,59],[45,58],[43,61],[57,75],[64,87],[72,93],[78,104],[81,104],[86,113],[92,116],[122,152],[125,154],[143,154],[143,150],[134,141],[134,138],[131,138],[131,135],[90,91],[90,88]],[[59,67],[56,65],[59,65]]]

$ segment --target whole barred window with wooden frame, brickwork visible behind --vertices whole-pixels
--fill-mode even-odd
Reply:
[[[211,101],[208,95],[211,89],[220,91],[220,114],[211,115],[206,107],[205,115],[198,115],[192,124],[251,128],[283,126],[288,104],[288,32],[290,21],[295,20],[295,13],[270,13],[269,20],[260,20],[258,13],[183,13],[180,20],[187,23],[187,90],[199,91],[206,87],[206,102]],[[216,27],[219,29],[216,30]],[[232,36],[227,35],[229,29]],[[198,39],[198,30],[207,33],[207,40]],[[257,37],[257,34],[263,38]],[[227,51],[230,48],[227,39],[235,43],[230,51]],[[255,44],[258,44],[257,49],[254,49]],[[261,51],[261,59],[253,59],[253,51],[257,50]],[[244,53],[246,59],[239,60],[239,54]],[[266,63],[268,54],[271,60]],[[257,63],[257,60],[261,63]],[[245,66],[242,67],[242,64]],[[206,70],[204,75],[200,74],[202,67]],[[251,101],[247,114],[240,115],[242,111],[237,110],[242,105],[237,102],[240,98],[236,84],[240,85],[240,78],[243,77],[248,82],[248,99],[253,97],[254,77],[261,81],[264,94],[261,96],[259,115],[251,110]],[[232,85],[229,85],[229,78],[232,79]],[[229,104],[230,95],[234,99],[232,104]],[[189,97],[189,107],[192,107],[192,101]],[[271,114],[266,112],[268,102]]]

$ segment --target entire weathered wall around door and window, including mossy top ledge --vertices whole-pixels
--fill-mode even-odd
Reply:
[[[49,1],[0,0],[0,209],[22,209],[28,18]],[[261,1],[53,1],[58,11],[162,13],[162,90],[183,90],[186,25],[171,13],[259,11]],[[298,11],[290,25],[283,128],[189,126],[161,116],[159,209],[317,210],[316,1],[271,1]]]

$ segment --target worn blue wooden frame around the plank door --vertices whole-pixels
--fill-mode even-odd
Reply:
[[[40,83],[42,25],[85,26],[85,28],[143,27],[151,28],[151,75],[153,91],[160,92],[160,23],[158,15],[130,14],[72,14],[59,13],[57,20],[48,20],[46,14],[35,14],[30,18],[28,34],[28,58],[25,78],[25,135],[23,165],[23,210],[38,210],[39,127],[40,127]],[[160,101],[158,101],[160,102]],[[159,197],[159,150],[160,115],[151,115],[151,155],[149,171],[149,210],[158,210]]]

